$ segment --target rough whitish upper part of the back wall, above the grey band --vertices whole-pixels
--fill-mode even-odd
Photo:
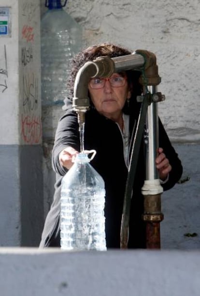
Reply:
[[[110,41],[153,51],[166,95],[160,116],[171,139],[200,140],[199,0],[68,0],[66,11],[81,23],[86,46]]]

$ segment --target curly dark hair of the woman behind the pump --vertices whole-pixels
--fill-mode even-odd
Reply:
[[[88,61],[93,61],[96,58],[100,56],[108,56],[110,58],[115,58],[119,56],[129,55],[131,54],[131,51],[129,51],[126,48],[116,46],[111,43],[103,43],[100,45],[93,45],[90,47],[87,47],[86,49],[79,52],[77,55],[75,55],[71,61],[71,74],[69,76],[67,86],[68,86],[68,92],[69,92],[69,98],[68,100],[72,101],[73,97],[73,87],[76,75],[79,71],[79,69]],[[129,85],[132,85],[132,96],[131,101],[136,101],[136,96],[141,94],[142,92],[142,86],[139,83],[139,77],[141,73],[139,71],[133,71],[128,70],[126,71],[127,77],[128,77],[128,83]],[[65,100],[66,103],[66,100]],[[91,103],[91,105],[93,105]],[[125,105],[123,111],[126,111],[126,113],[129,113],[127,110],[127,104]]]

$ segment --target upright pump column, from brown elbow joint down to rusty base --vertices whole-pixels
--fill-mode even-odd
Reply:
[[[149,56],[145,51],[141,52]],[[156,168],[156,157],[158,148],[158,115],[157,102],[164,100],[164,95],[157,93],[157,85],[161,79],[158,76],[156,56],[153,62],[146,67],[140,82],[143,85],[144,94],[149,93],[151,104],[148,106],[146,115],[146,127],[144,134],[146,179],[142,187],[144,196],[143,220],[146,222],[146,247],[147,249],[160,249],[160,225],[163,220],[161,213],[161,193],[158,171]]]

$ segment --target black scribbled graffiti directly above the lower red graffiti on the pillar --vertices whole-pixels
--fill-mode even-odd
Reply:
[[[34,73],[23,75],[23,111],[29,113],[38,109],[38,78]]]

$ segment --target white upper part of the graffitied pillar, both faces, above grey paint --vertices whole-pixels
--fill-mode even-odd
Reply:
[[[0,35],[0,144],[42,142],[40,6],[38,1],[1,0],[10,8],[11,33]],[[2,72],[2,71],[1,71]]]

